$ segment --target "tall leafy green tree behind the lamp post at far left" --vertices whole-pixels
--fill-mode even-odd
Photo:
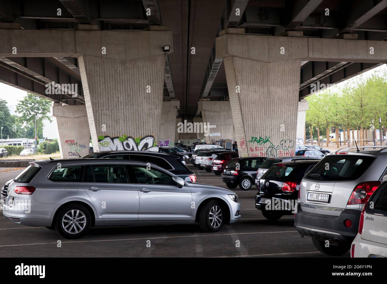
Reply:
[[[36,132],[37,137],[43,138],[43,121],[46,119],[52,121],[48,116],[50,112],[51,101],[43,97],[28,93],[24,99],[16,105],[16,111],[21,114],[18,118],[24,129],[26,138],[34,138],[35,123],[34,114],[36,114]]]

